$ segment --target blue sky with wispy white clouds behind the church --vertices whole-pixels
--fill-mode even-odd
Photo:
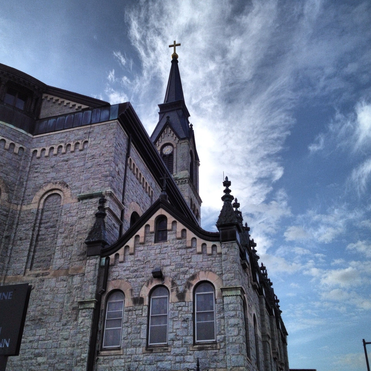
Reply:
[[[3,1],[0,62],[130,101],[148,132],[171,50],[201,160],[223,171],[279,296],[291,368],[365,370],[371,341],[370,1]],[[371,349],[370,349],[371,353]]]

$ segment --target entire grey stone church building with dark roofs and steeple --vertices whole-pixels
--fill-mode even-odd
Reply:
[[[159,121],[0,64],[0,285],[32,285],[7,370],[289,371],[287,332],[231,182],[200,227],[174,53]]]

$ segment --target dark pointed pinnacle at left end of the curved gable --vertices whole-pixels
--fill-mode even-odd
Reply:
[[[101,253],[102,247],[108,245],[106,236],[106,226],[104,218],[107,215],[104,211],[104,204],[106,199],[104,196],[99,198],[98,211],[95,213],[95,222],[90,230],[88,237],[85,240],[88,249],[86,251],[87,256],[99,255]]]

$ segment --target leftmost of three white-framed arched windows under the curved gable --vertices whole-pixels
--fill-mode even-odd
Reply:
[[[106,306],[103,348],[121,347],[122,315],[125,296],[121,291],[109,295]]]

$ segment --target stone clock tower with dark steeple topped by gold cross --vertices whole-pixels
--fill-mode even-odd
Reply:
[[[176,44],[175,40],[173,45],[169,45],[174,47],[170,75],[164,103],[158,105],[159,120],[151,139],[200,223],[202,203],[198,194],[200,160],[196,150],[193,125],[188,120],[190,114],[184,101],[178,55],[175,53],[176,46],[180,44]]]

